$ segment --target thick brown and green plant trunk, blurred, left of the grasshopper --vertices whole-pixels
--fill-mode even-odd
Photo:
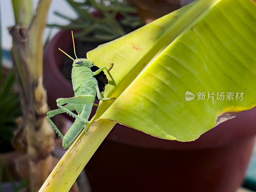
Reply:
[[[17,129],[12,138],[15,151],[2,157],[6,163],[12,162],[16,179],[30,180],[28,188],[23,189],[30,192],[40,188],[54,166],[51,153],[55,134],[45,118],[49,107],[43,86],[43,35],[51,3],[52,0],[39,0],[35,12],[33,0],[12,0],[15,25],[8,28],[22,115],[16,121]],[[3,92],[1,89],[4,102],[1,108],[8,109],[9,118],[17,114],[12,111],[18,104],[17,98],[11,95],[13,83],[14,73],[11,72],[5,79]]]

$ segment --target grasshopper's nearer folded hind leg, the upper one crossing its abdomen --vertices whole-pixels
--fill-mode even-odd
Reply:
[[[72,104],[89,104],[93,103],[95,100],[95,97],[93,95],[81,95],[81,96],[76,96],[76,97],[71,97],[71,98],[59,98],[56,100],[57,106],[67,112],[68,114],[72,115],[73,117],[76,117],[77,119],[80,119],[81,121],[85,123],[89,123],[88,120],[72,113],[68,108],[65,106],[62,106],[63,104],[66,103],[72,103]]]

